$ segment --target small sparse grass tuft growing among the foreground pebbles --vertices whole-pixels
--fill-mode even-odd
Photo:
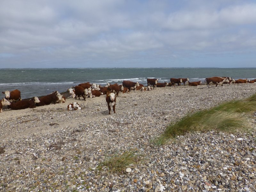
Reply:
[[[124,153],[115,153],[113,156],[106,158],[102,163],[97,167],[99,171],[103,170],[103,167],[107,167],[107,172],[125,172],[128,166],[138,164],[140,161],[140,156],[137,154],[137,151],[132,149],[125,151]]]

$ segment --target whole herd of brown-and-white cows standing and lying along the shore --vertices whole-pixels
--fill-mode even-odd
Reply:
[[[80,97],[86,100],[86,97],[99,97],[101,95],[106,95],[106,102],[108,105],[108,115],[110,115],[110,107],[113,108],[113,112],[115,111],[116,106],[116,97],[118,97],[118,93],[127,93],[131,90],[134,91],[152,91],[156,87],[165,87],[165,86],[175,86],[176,84],[180,86],[182,83],[183,85],[188,82],[189,86],[198,86],[201,84],[201,81],[197,82],[190,82],[188,78],[171,78],[170,83],[164,82],[160,83],[158,82],[159,79],[153,79],[148,78],[147,79],[147,86],[144,87],[143,84],[140,84],[139,82],[132,82],[132,81],[123,81],[122,84],[109,84],[105,87],[101,87],[99,84],[91,84],[89,82],[79,84],[75,87],[71,87],[67,90],[67,92],[70,93],[69,98],[74,98],[80,100]],[[247,79],[238,79],[234,80],[230,77],[209,77],[205,78],[204,83],[210,88],[209,85],[213,84],[215,87],[217,85],[223,86],[223,84],[240,84],[240,83],[254,83],[256,82],[256,79],[253,80],[247,80]],[[5,97],[0,102],[0,112],[2,112],[2,108],[4,106],[7,106],[7,108],[11,108],[12,110],[20,110],[25,108],[35,108],[36,106],[44,106],[44,105],[50,105],[51,103],[64,103],[66,101],[66,98],[61,95],[58,91],[54,91],[49,95],[45,95],[42,97],[33,97],[30,100],[21,100],[20,91],[18,89],[15,89],[13,91],[5,91],[2,92]],[[73,102],[68,104],[67,107],[68,110],[77,110],[81,109],[80,105],[77,102]]]

